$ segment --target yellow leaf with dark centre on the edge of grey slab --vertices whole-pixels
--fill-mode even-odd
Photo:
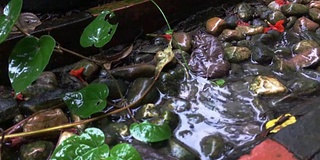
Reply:
[[[267,122],[266,129],[272,129],[270,133],[277,133],[280,129],[296,123],[296,118],[291,114],[285,114],[277,119],[273,119]]]

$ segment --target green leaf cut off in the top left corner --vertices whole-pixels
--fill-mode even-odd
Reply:
[[[20,15],[21,8],[22,0],[11,0],[3,9],[3,15],[0,15],[0,43],[10,34]]]

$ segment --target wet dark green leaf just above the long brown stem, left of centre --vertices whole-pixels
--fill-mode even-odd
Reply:
[[[92,83],[78,92],[66,93],[63,100],[72,113],[87,118],[106,107],[108,94],[109,89],[105,84]]]

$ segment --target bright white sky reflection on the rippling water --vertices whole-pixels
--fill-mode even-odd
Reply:
[[[188,101],[190,108],[177,112],[182,104],[174,101],[181,120],[175,137],[196,150],[201,159],[208,159],[201,153],[200,143],[206,136],[222,135],[225,142],[231,144],[230,148],[252,140],[260,132],[263,120],[258,118],[259,111],[252,103],[254,97],[248,85],[240,79],[218,87],[195,76],[182,83],[178,97],[170,98]]]

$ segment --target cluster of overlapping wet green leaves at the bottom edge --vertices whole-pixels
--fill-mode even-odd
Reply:
[[[117,144],[111,150],[105,135],[98,128],[87,128],[80,136],[64,140],[52,153],[51,160],[141,160],[139,152],[130,144]]]

